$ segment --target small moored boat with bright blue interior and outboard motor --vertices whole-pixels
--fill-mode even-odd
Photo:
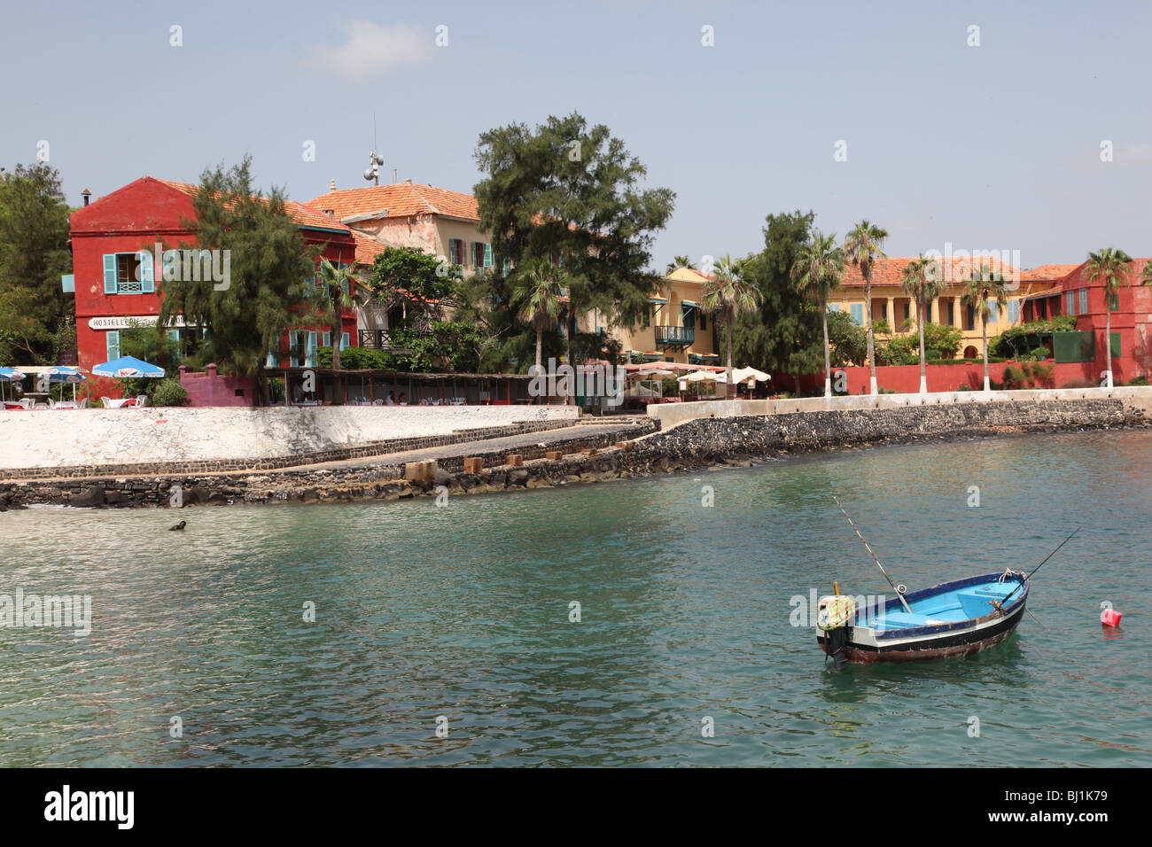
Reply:
[[[821,598],[817,642],[838,667],[844,661],[915,661],[987,650],[1011,635],[1024,615],[1028,577],[1015,570],[984,574],[901,597],[882,604],[839,593]]]

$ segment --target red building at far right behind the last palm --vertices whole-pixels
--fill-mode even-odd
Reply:
[[[1049,320],[1059,315],[1076,317],[1076,332],[1090,333],[1091,373],[1099,379],[1107,369],[1104,334],[1111,312],[1113,383],[1119,385],[1152,373],[1152,287],[1140,283],[1144,264],[1134,259],[1120,281],[1120,289],[1105,303],[1104,280],[1089,279],[1087,263],[1045,265],[1051,269],[1049,289],[1030,295],[1024,303],[1024,320]],[[1037,269],[1043,270],[1043,269]],[[1058,354],[1058,360],[1060,358]]]

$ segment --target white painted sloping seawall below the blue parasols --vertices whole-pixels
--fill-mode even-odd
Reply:
[[[564,406],[0,411],[0,468],[272,459],[577,414]]]

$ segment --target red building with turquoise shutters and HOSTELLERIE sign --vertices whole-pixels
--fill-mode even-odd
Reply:
[[[166,249],[196,239],[181,225],[195,218],[196,186],[143,176],[73,213],[73,274],[76,296],[76,343],[79,366],[119,358],[120,333],[134,325],[153,323],[160,311],[162,269],[156,267],[153,250],[162,241]],[[304,241],[321,248],[333,264],[354,264],[356,241],[351,229],[326,214],[287,203],[287,212],[300,226]],[[159,282],[157,281],[159,280]],[[209,327],[188,326],[183,320],[168,330],[169,336],[196,342]],[[356,315],[341,316],[342,347],[356,343]],[[281,340],[282,358],[270,364],[312,365],[316,348],[331,343],[331,327],[302,324]],[[296,355],[298,354],[298,355]],[[173,373],[172,376],[176,376]]]

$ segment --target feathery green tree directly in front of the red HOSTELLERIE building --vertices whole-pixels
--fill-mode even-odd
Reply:
[[[230,278],[219,288],[211,279],[158,279],[159,324],[182,313],[209,327],[209,350],[222,373],[259,373],[289,327],[314,323],[318,250],[288,215],[283,190],[265,196],[252,184],[249,157],[205,168],[192,209],[195,219],[184,226],[200,249],[230,251]]]

